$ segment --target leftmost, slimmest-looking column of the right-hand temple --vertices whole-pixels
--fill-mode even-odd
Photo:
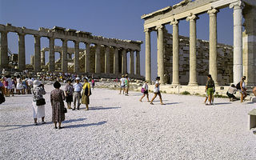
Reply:
[[[146,66],[145,66],[145,71],[146,71],[146,81],[151,81],[151,40],[150,40],[150,29],[145,29],[144,30],[146,34],[145,38],[145,59],[146,59]]]

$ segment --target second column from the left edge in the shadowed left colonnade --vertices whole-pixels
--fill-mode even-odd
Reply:
[[[18,70],[26,69],[25,34],[18,34]]]

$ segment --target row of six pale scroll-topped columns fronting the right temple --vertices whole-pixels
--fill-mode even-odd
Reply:
[[[234,83],[242,78],[242,2],[236,2],[230,5],[234,8]],[[214,82],[218,85],[218,68],[217,68],[217,13],[218,10],[212,9],[207,12],[210,17],[210,55],[209,55],[209,73],[212,75]],[[198,17],[191,14],[186,18],[190,22],[190,80],[189,86],[198,86],[197,80],[197,34],[196,20]],[[173,26],[173,79],[172,85],[179,85],[179,38],[178,38],[178,20],[170,22]],[[164,82],[164,50],[163,50],[163,30],[165,26],[156,26],[158,32],[158,76],[161,82]],[[151,80],[151,62],[150,62],[150,29],[144,30],[146,34],[146,80]]]

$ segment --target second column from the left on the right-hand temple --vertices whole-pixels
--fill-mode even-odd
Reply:
[[[160,76],[160,82],[164,83],[164,54],[163,54],[163,30],[165,26],[157,26],[158,30],[158,76]]]

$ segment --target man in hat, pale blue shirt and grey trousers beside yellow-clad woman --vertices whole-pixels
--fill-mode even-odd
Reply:
[[[74,83],[74,108],[72,110],[75,110],[76,104],[78,102],[78,110],[80,107],[80,99],[81,99],[81,91],[82,91],[82,84],[79,82],[80,78],[75,78]]]

